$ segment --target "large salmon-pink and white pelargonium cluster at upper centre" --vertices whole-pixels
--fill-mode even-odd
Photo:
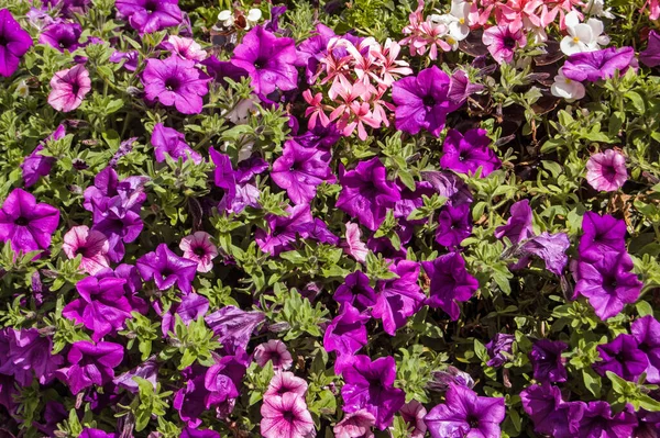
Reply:
[[[334,123],[343,136],[358,130],[364,141],[365,124],[373,128],[389,126],[387,111],[394,111],[394,106],[384,96],[397,78],[413,74],[408,63],[397,59],[399,52],[400,46],[391,40],[381,45],[373,37],[356,43],[344,36],[331,38],[314,77],[315,81],[321,78],[321,86],[330,85],[327,94],[312,94],[311,90],[302,93],[310,105],[305,113],[309,128]]]

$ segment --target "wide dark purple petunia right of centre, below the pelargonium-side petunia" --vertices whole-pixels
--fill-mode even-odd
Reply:
[[[482,178],[502,167],[499,158],[488,147],[491,138],[486,130],[469,130],[462,135],[457,130],[449,130],[442,144],[440,166],[459,173],[474,173],[481,167]]]

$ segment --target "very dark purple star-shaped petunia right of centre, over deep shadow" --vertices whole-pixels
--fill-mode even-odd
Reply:
[[[450,252],[421,266],[431,280],[427,304],[442,308],[457,321],[461,313],[458,303],[470,300],[479,289],[479,282],[465,269],[465,260],[459,252]]]

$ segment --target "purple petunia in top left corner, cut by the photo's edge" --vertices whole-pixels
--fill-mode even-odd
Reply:
[[[9,10],[0,10],[0,76],[9,78],[19,68],[21,57],[32,47],[32,37]]]

